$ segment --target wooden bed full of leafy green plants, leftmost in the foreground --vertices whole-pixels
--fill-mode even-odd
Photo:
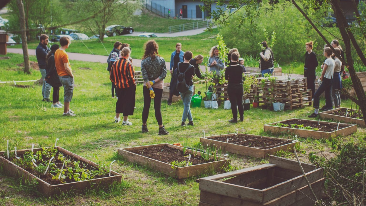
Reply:
[[[15,158],[14,151],[10,151],[10,154],[10,158],[7,159],[7,152],[0,152],[0,166],[3,167],[4,171],[17,178],[22,178],[23,182],[31,182],[32,179],[36,179],[39,183],[40,192],[47,197],[61,194],[61,192],[81,192],[91,187],[108,187],[113,182],[120,183],[122,180],[122,176],[119,173],[111,170],[111,176],[109,176],[109,169],[102,168],[96,163],[61,147],[56,147],[53,151],[50,151],[49,147],[35,148],[33,154],[36,157],[32,156],[31,149],[17,150],[17,157],[20,157],[20,159]],[[30,157],[37,159],[36,165],[38,169],[44,166],[45,170],[51,158],[49,157],[50,154],[55,154],[53,156],[55,158],[52,160],[48,172],[45,175],[43,175],[43,172],[37,172],[36,167],[29,161]],[[39,157],[40,159],[38,159]],[[66,160],[63,168],[64,173],[61,175],[61,180],[59,180],[57,177],[60,173],[57,173],[57,171],[61,171],[64,162],[63,158],[70,160],[70,162],[68,163]],[[42,161],[43,163],[41,163]],[[71,168],[70,171],[68,171],[68,168]],[[53,178],[52,174],[56,178]]]

